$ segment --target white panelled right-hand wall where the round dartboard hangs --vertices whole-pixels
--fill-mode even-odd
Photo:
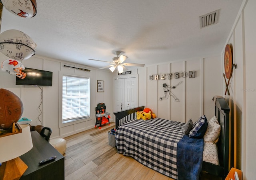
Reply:
[[[235,126],[235,167],[243,171],[245,180],[255,179],[256,162],[255,9],[255,0],[243,1],[227,39],[227,43],[233,47],[233,63],[236,63],[237,69],[234,69],[229,86],[230,96],[226,95],[226,99],[229,100]],[[224,79],[222,84],[225,85]],[[223,86],[223,95],[225,88]]]

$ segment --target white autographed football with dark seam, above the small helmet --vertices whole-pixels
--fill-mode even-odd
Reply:
[[[11,59],[22,61],[35,55],[36,43],[24,32],[10,29],[0,34],[0,51]]]

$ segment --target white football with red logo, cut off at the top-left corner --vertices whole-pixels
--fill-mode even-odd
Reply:
[[[36,16],[36,0],[1,0],[4,8],[23,18]]]

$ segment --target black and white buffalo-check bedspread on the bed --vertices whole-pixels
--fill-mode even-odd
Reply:
[[[186,123],[154,118],[133,119],[116,129],[118,153],[131,156],[145,166],[178,179],[177,143]]]

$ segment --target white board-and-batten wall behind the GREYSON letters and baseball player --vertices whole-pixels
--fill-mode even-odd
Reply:
[[[157,117],[173,121],[187,122],[190,118],[197,121],[202,115],[208,119],[214,115],[212,98],[222,95],[222,65],[221,56],[189,59],[153,65],[148,67],[130,68],[132,74],[138,74],[139,106],[150,108]],[[181,77],[182,72],[195,71],[195,77]],[[179,78],[174,78],[174,73]],[[172,73],[170,79],[167,74]],[[159,80],[155,80],[155,75]],[[161,74],[166,74],[161,80]],[[150,80],[153,75],[153,80]],[[129,75],[126,75],[129,76]],[[172,93],[178,98],[176,102],[172,96],[159,100],[164,96],[163,84],[175,86]]]

